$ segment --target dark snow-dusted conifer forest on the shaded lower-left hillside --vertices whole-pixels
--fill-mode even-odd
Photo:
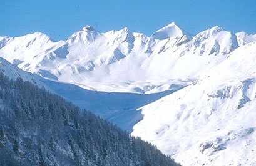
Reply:
[[[56,94],[0,72],[0,165],[179,165]]]

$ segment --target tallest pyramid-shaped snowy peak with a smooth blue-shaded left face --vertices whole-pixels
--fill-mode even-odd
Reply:
[[[183,35],[188,35],[188,32],[185,32],[183,29],[178,27],[175,22],[171,22],[167,26],[159,29],[151,35],[154,39],[164,40],[171,37],[181,37]]]

